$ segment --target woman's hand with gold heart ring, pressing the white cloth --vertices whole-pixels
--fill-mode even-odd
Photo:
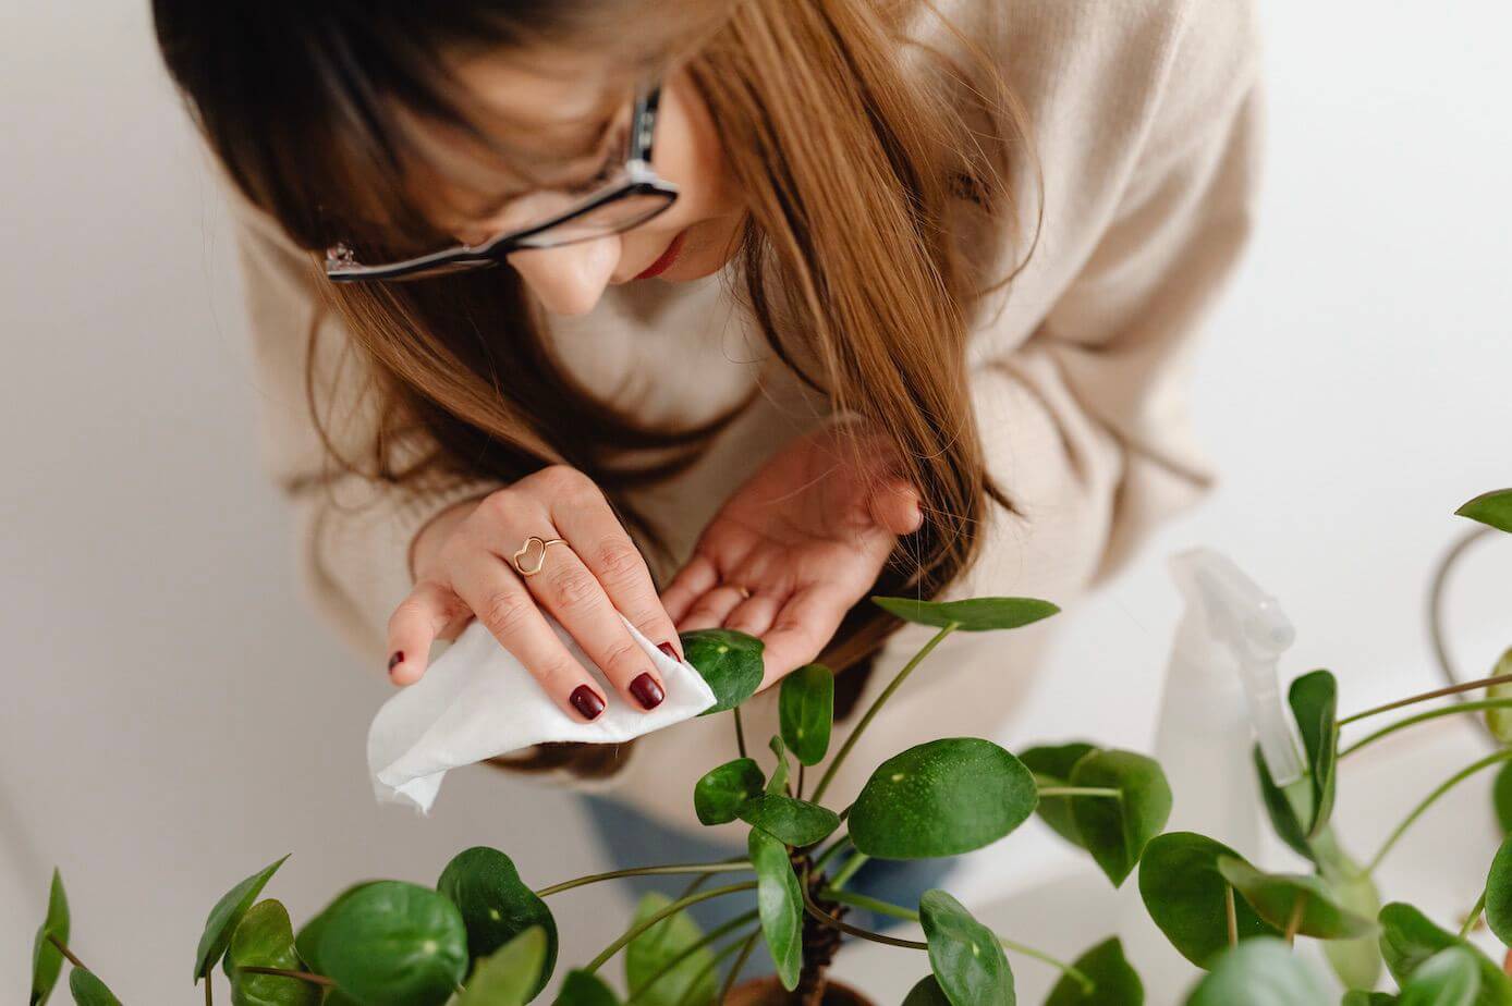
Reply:
[[[434,533],[432,533],[434,532]],[[511,557],[528,538],[522,576]],[[435,639],[455,639],[473,619],[529,669],[569,714],[597,719],[608,696],[546,621],[549,613],[603,669],[631,708],[661,704],[665,686],[615,615],[674,660],[682,645],[646,559],[603,492],[576,468],[553,465],[482,500],[455,506],[414,541],[414,589],[389,618],[389,677],[413,684]]]

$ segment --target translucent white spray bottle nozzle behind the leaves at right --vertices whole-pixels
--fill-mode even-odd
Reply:
[[[1276,598],[1261,591],[1228,556],[1211,548],[1173,556],[1170,572],[1187,601],[1188,616],[1196,616],[1205,630],[1214,659],[1223,654],[1238,674],[1272,779],[1287,785],[1302,778],[1302,760],[1276,678],[1281,654],[1296,639],[1291,621]]]

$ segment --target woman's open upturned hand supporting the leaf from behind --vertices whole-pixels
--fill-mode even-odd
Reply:
[[[724,503],[662,603],[680,631],[761,636],[767,687],[820,654],[898,535],[922,523],[891,443],[829,426],[785,447]]]

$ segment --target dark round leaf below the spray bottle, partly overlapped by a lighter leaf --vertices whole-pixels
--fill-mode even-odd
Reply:
[[[1139,864],[1145,909],[1170,946],[1199,968],[1228,949],[1229,885],[1219,873],[1219,856],[1238,853],[1207,835],[1173,831],[1152,838]],[[1234,918],[1240,940],[1281,935],[1237,894]]]

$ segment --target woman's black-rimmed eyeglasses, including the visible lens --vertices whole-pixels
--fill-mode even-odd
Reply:
[[[520,199],[532,224],[481,245],[458,245],[416,258],[364,264],[345,243],[336,245],[325,252],[325,275],[336,282],[423,279],[497,266],[520,249],[559,248],[640,227],[677,199],[677,186],[658,177],[650,163],[659,100],[659,83],[637,94],[624,163],[596,192],[587,196],[550,189],[532,192]]]

